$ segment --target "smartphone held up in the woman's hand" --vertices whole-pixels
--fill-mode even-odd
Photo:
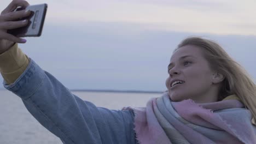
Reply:
[[[28,25],[16,29],[9,29],[7,32],[16,37],[40,37],[43,31],[44,19],[47,11],[47,4],[28,5],[26,10],[31,11],[31,15],[20,20],[28,20]],[[25,8],[17,8],[16,11],[24,10]]]

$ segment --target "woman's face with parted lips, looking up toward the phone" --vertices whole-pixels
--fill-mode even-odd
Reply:
[[[200,47],[185,45],[171,57],[166,80],[168,94],[172,101],[193,99],[197,103],[209,101],[216,93],[213,88],[213,70],[203,57]]]

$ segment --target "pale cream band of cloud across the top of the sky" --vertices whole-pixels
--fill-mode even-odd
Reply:
[[[256,34],[256,1],[29,1],[48,3],[46,22],[135,23],[144,29],[212,34]],[[5,2],[6,3],[6,2]],[[4,4],[5,4],[4,3]],[[249,27],[246,27],[248,26]]]

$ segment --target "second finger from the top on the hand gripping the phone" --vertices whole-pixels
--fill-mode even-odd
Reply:
[[[16,21],[17,19],[30,16],[30,14],[31,14],[31,11],[29,10],[13,11],[13,12],[1,15],[0,21]]]

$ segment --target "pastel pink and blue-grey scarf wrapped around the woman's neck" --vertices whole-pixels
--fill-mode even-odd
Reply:
[[[136,139],[141,144],[256,143],[252,115],[238,100],[196,104],[173,102],[167,93],[135,112]]]

